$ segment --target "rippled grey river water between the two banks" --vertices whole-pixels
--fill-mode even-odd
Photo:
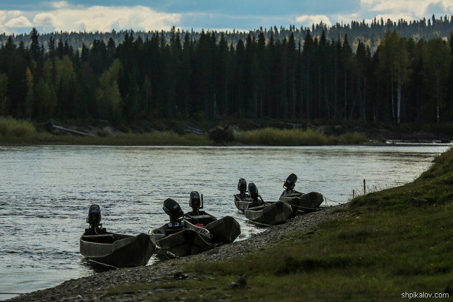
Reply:
[[[295,173],[297,190],[343,202],[363,189],[363,179],[369,188],[413,180],[446,148],[0,146],[0,292],[102,270],[79,254],[92,203],[101,206],[107,230],[118,233],[162,225],[164,199],[188,210],[193,190],[204,195],[205,210],[243,219],[233,203],[240,177],[255,182],[264,200],[276,200]],[[262,231],[239,222],[239,240]]]

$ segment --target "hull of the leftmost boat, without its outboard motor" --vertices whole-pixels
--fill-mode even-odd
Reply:
[[[146,265],[153,255],[156,246],[149,235],[140,233],[128,236],[109,233],[122,237],[113,243],[96,243],[85,239],[85,233],[80,238],[80,253],[88,260],[113,267],[134,267]]]

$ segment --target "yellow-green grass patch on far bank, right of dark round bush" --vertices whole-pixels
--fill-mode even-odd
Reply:
[[[244,144],[259,145],[331,145],[359,144],[369,139],[361,133],[326,135],[320,130],[262,128],[237,134],[236,140]]]

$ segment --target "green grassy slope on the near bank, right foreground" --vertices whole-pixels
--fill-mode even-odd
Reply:
[[[347,217],[319,225],[315,234],[292,234],[277,247],[242,260],[176,264],[194,278],[109,290],[225,285],[248,275],[251,288],[140,293],[149,300],[280,300],[348,298],[399,300],[404,292],[443,292],[453,285],[453,149],[414,182],[358,197]],[[410,197],[426,198],[414,206]]]

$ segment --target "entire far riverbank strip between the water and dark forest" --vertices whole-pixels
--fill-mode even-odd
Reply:
[[[232,121],[224,121],[232,123]],[[186,122],[187,123],[187,122]],[[347,145],[369,144],[388,145],[387,140],[410,142],[441,141],[449,142],[453,137],[444,134],[445,125],[439,133],[424,130],[410,131],[401,126],[397,129],[364,128],[354,123],[344,125],[294,124],[269,122],[260,124],[243,121],[235,126],[217,126],[205,122],[202,129],[186,126],[184,121],[162,121],[155,128],[149,125],[140,127],[113,127],[110,125],[84,124],[81,122],[64,127],[53,124],[32,124],[26,120],[0,117],[0,144],[74,144],[74,145]],[[240,126],[241,124],[241,126]],[[156,125],[155,125],[156,126]],[[406,128],[405,128],[406,127]],[[445,129],[444,129],[445,128]],[[428,129],[430,129],[428,127]],[[404,130],[404,131],[403,131]],[[435,129],[431,129],[435,130]],[[448,131],[446,132],[448,133]]]

